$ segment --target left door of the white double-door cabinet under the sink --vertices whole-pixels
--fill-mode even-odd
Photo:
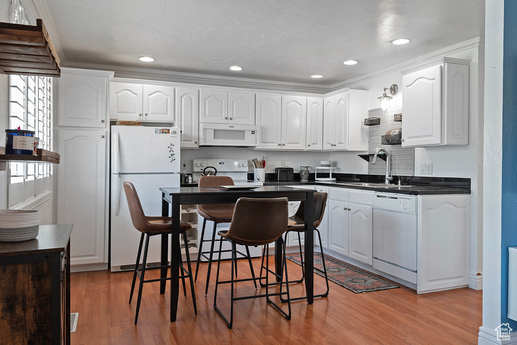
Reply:
[[[328,249],[348,256],[348,203],[329,200]]]

